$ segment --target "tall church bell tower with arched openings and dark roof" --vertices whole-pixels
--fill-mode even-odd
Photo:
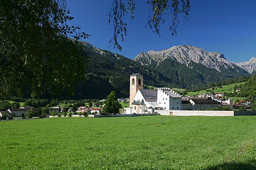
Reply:
[[[140,73],[130,75],[130,106],[139,89],[143,89],[143,76]]]

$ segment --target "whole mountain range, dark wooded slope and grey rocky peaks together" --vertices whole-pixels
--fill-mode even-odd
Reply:
[[[138,72],[143,75],[146,88],[154,86],[190,90],[253,73],[250,61],[239,66],[239,63],[228,61],[219,52],[206,52],[191,45],[174,46],[160,52],[150,50],[130,60],[83,42],[82,54],[87,60],[87,79],[76,89],[77,99],[102,99],[113,90],[118,97],[128,97],[130,75]],[[246,64],[251,64],[250,71],[246,70]]]

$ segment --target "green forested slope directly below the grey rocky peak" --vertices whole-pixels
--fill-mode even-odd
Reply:
[[[166,58],[157,65],[152,62],[149,67],[162,73],[165,77],[172,80],[174,87],[185,88],[189,90],[202,89],[209,83],[234,78],[228,71],[218,72],[202,64],[190,62],[188,66],[177,61]]]

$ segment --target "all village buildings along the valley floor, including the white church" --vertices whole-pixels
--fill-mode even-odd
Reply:
[[[241,89],[236,89],[238,92]],[[119,102],[126,101],[130,103],[129,107],[121,109],[119,114],[153,114],[161,111],[205,111],[214,108],[225,107],[226,110],[241,109],[250,110],[248,101],[240,101],[238,104],[233,103],[233,99],[222,100],[223,94],[201,94],[197,96],[182,97],[170,88],[144,89],[143,76],[140,73],[130,75],[130,98],[119,98]],[[105,99],[100,100],[101,103]],[[104,106],[104,105],[103,105]],[[60,113],[68,112],[74,115],[101,114],[102,107],[94,104],[90,106],[79,106],[76,111],[71,107],[64,111],[64,108],[47,108],[47,116],[57,116]],[[7,117],[27,116],[29,110],[35,111],[32,106],[21,106],[19,108],[9,108],[7,111],[0,111],[0,117],[4,114]]]

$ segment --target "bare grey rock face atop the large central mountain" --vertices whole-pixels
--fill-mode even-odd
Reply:
[[[149,65],[151,62],[155,61],[158,64],[165,60],[165,58],[171,58],[183,65],[188,66],[188,64],[193,61],[195,63],[203,64],[206,67],[221,71],[221,69],[233,69],[237,70],[237,66],[228,61],[223,54],[219,52],[206,52],[202,48],[195,46],[173,46],[169,49],[164,49],[160,52],[155,52],[153,50],[147,53],[140,53],[133,61],[137,61],[141,65]]]

